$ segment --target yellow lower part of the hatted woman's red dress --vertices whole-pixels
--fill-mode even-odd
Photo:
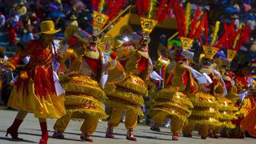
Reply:
[[[66,114],[64,107],[64,97],[56,95],[46,95],[44,98],[38,98],[34,94],[34,83],[28,82],[28,95],[23,90],[26,86],[19,88],[14,86],[10,94],[8,106],[14,109],[34,113],[36,118],[62,118]]]

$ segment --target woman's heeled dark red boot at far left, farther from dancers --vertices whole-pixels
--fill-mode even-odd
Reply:
[[[11,138],[22,140],[22,138],[18,138],[18,127],[22,122],[22,120],[15,118],[13,124],[6,130],[6,137],[10,134]]]

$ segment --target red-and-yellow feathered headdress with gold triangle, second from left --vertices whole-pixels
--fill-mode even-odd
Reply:
[[[136,0],[138,16],[141,18],[141,26],[143,35],[150,35],[158,22],[162,22],[167,18],[167,12],[172,6],[171,0],[168,5],[167,0],[162,0],[157,6],[157,0]],[[166,8],[163,10],[164,6]],[[158,10],[156,10],[158,7]],[[144,16],[142,16],[144,14]],[[154,16],[155,15],[155,16]],[[155,18],[155,19],[154,19]]]

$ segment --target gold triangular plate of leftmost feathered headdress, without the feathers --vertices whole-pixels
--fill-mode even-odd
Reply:
[[[102,14],[98,11],[94,11],[93,14],[94,22],[93,22],[93,29],[94,34],[98,34],[100,30],[102,30],[102,27],[106,25],[106,22],[109,19],[109,16],[106,14]]]

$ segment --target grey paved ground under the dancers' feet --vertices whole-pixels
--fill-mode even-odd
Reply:
[[[18,130],[19,135],[21,138],[26,139],[22,142],[15,142],[10,139],[10,136],[6,138],[6,128],[10,126],[13,122],[15,115],[17,114],[16,111],[13,110],[0,110],[0,144],[30,144],[30,143],[38,143],[38,140],[41,136],[40,126],[38,124],[38,119],[34,118],[33,114],[29,114],[25,122],[22,123],[22,126]],[[48,120],[48,129],[49,134],[53,134],[53,125],[56,120]],[[48,143],[49,144],[79,144],[79,143],[90,143],[90,142],[82,142],[79,139],[80,131],[79,127],[81,126],[82,122],[70,122],[70,125],[67,127],[65,140],[58,140],[54,138],[50,138]],[[136,130],[134,130],[138,142],[129,142],[126,140],[126,129],[123,123],[114,130],[114,134],[116,139],[109,139],[104,138],[105,131],[106,131],[106,122],[99,122],[98,129],[93,134],[92,138],[94,138],[94,143],[106,143],[106,144],[114,144],[114,143],[144,143],[144,144],[164,144],[164,143],[179,143],[179,144],[255,144],[256,139],[254,138],[245,138],[245,139],[226,139],[226,138],[219,138],[219,139],[212,139],[207,138],[206,140],[202,140],[198,137],[198,134],[194,133],[194,138],[183,138],[181,137],[178,142],[174,142],[170,140],[170,130],[167,128],[162,128],[161,132],[154,132],[149,130],[149,126],[138,126]]]

